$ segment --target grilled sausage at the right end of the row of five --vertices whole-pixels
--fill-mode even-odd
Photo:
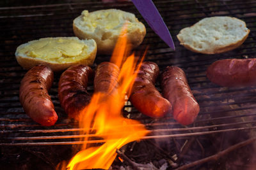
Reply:
[[[182,125],[192,124],[200,108],[188,85],[186,74],[176,66],[169,66],[161,74],[163,96],[170,101],[173,118]]]

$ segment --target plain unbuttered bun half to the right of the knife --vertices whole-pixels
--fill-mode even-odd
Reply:
[[[177,38],[180,45],[198,53],[222,53],[240,46],[250,30],[245,22],[234,17],[204,18],[182,29]]]

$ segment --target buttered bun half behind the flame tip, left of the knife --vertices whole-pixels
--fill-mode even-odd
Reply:
[[[145,37],[145,25],[133,13],[126,11],[109,9],[89,13],[84,10],[74,19],[73,31],[80,39],[94,39],[97,53],[111,54],[124,24],[127,24],[127,39],[131,48],[136,48]]]

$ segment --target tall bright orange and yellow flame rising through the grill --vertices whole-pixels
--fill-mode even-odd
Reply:
[[[116,157],[116,149],[120,149],[131,141],[136,141],[145,136],[148,131],[138,121],[122,117],[122,108],[125,104],[125,95],[129,96],[132,84],[136,78],[140,64],[134,53],[129,55],[127,46],[126,29],[124,28],[118,39],[111,57],[120,67],[118,76],[118,89],[116,93],[93,94],[92,101],[82,111],[79,127],[84,145],[68,163],[67,169],[109,169]],[[109,89],[111,92],[112,89]],[[100,139],[97,146],[91,146],[86,141]]]

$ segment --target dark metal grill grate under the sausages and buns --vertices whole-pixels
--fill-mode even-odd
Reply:
[[[82,129],[79,129],[76,121],[67,117],[58,101],[60,73],[54,74],[54,83],[49,92],[59,115],[56,125],[42,127],[24,113],[19,102],[19,86],[26,70],[19,66],[14,53],[17,46],[34,39],[74,36],[72,20],[85,9],[94,11],[118,8],[134,13],[147,27],[147,35],[135,52],[139,54],[148,46],[145,60],[156,62],[161,71],[164,67],[172,65],[184,69],[191,90],[193,90],[193,94],[200,104],[200,113],[195,123],[185,127],[175,122],[171,115],[159,119],[143,116],[128,101],[124,107],[124,117],[129,115],[130,118],[140,120],[150,131],[150,134],[145,136],[143,141],[151,142],[152,139],[156,139],[156,141],[183,141],[184,143],[184,141],[191,141],[191,139],[196,139],[196,141],[202,139],[205,142],[200,144],[201,148],[207,148],[209,142],[206,141],[213,139],[212,137],[210,139],[209,135],[222,135],[222,137],[228,138],[227,134],[232,134],[228,139],[230,143],[233,143],[233,141],[236,143],[249,138],[255,132],[256,87],[220,87],[207,79],[205,71],[207,66],[219,59],[255,57],[256,1],[155,1],[157,9],[173,36],[175,52],[150,29],[131,2],[74,1],[70,3],[58,1],[58,4],[50,4],[56,2],[47,1],[44,3],[49,4],[35,4],[33,6],[7,4],[7,7],[0,8],[1,162],[8,160],[8,157],[12,157],[14,161],[17,160],[17,156],[24,150],[27,152],[29,150],[29,153],[32,150],[34,155],[38,155],[38,153],[39,155],[47,155],[46,152],[51,152],[51,150],[56,152],[56,150],[65,149],[68,155],[60,158],[60,154],[63,153],[60,152],[58,159],[68,159],[68,156],[72,154],[72,146],[76,147],[76,145],[83,143],[83,141],[79,141],[82,136],[78,133]],[[14,6],[8,7],[10,5]],[[205,17],[223,15],[244,20],[251,31],[246,41],[239,48],[216,55],[205,55],[190,52],[184,46],[179,45],[176,35],[180,29],[193,25]],[[97,55],[93,68],[100,62],[109,61],[109,59],[110,55]],[[159,83],[156,84],[156,87],[159,89]],[[159,90],[161,91],[161,89]],[[88,92],[93,93],[92,84],[89,85]],[[244,135],[241,136],[241,134]],[[237,138],[237,136],[240,136],[240,138]],[[104,141],[100,139],[89,141],[89,143],[100,142]],[[10,148],[12,148],[11,151]],[[40,150],[40,148],[42,149]],[[13,157],[15,158],[13,159]],[[45,160],[42,157],[41,159]],[[188,162],[184,162],[184,164],[186,163]]]

